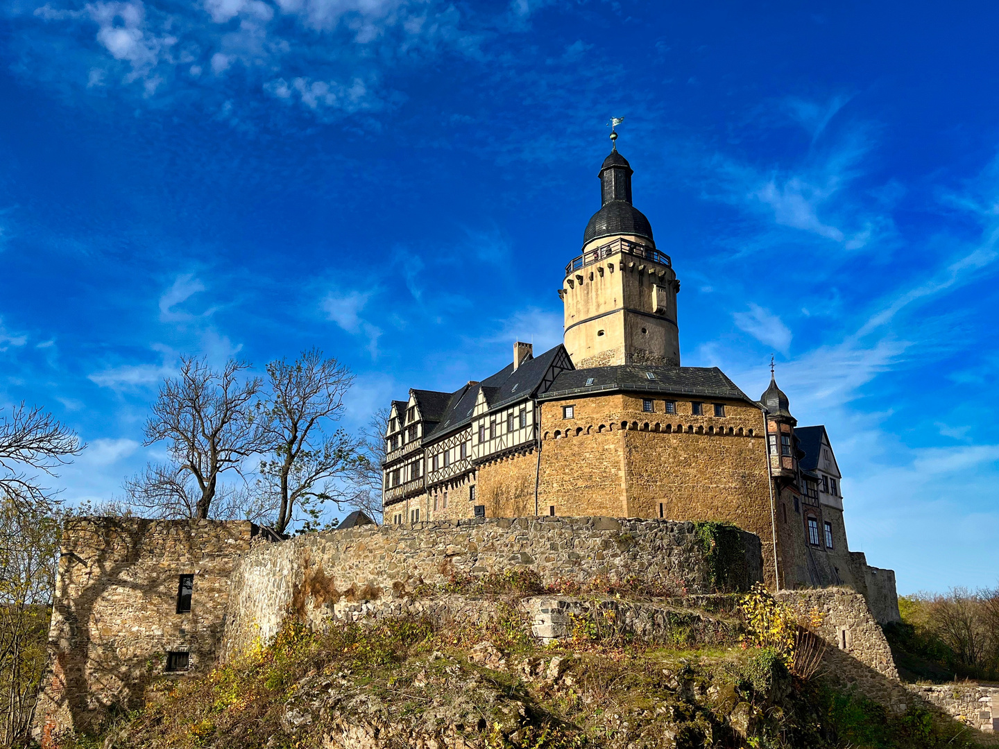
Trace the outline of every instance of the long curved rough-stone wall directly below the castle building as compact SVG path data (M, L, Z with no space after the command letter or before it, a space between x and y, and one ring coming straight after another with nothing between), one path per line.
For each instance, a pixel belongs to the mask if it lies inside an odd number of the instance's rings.
M750 579L757 580L759 539L744 539ZM251 550L233 573L222 657L267 641L289 613L322 626L353 610L345 602L403 599L456 574L524 566L545 583L640 575L689 593L710 589L704 548L689 522L538 517L363 526Z

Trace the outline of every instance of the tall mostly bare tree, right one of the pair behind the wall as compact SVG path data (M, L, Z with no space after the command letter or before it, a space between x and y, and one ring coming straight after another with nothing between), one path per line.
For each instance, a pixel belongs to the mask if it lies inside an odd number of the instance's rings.
M261 464L261 483L274 497L275 530L284 533L297 512L318 520L324 503L343 506L355 496L345 479L362 459L359 440L343 429L326 430L340 419L354 375L316 349L295 362L272 362L267 375L271 456Z

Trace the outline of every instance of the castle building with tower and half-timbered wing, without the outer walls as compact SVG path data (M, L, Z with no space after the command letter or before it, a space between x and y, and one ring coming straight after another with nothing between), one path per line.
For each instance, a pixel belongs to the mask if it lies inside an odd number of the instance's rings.
M563 344L534 357L516 342L494 375L392 402L386 522L726 520L762 539L770 585L847 585L897 620L894 573L847 545L825 427L798 426L772 377L756 400L717 368L680 366L680 285L632 205L631 175L614 142L558 290Z

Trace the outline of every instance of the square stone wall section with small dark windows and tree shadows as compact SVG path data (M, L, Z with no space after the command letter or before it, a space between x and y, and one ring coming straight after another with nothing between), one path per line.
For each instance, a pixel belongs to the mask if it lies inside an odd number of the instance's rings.
M50 662L35 738L90 730L110 705L135 706L164 673L166 653L190 671L214 663L229 576L251 546L249 522L77 518L64 529ZM194 575L189 613L177 613L181 574Z

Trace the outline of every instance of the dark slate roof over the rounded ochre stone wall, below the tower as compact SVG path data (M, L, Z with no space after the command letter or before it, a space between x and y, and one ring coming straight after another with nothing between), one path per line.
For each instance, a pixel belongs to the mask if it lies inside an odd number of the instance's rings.
M651 373L650 378L648 374ZM589 384L587 381L592 379ZM729 398L754 403L717 367L643 367L619 365L559 373L538 400L599 392L654 392L668 395Z

